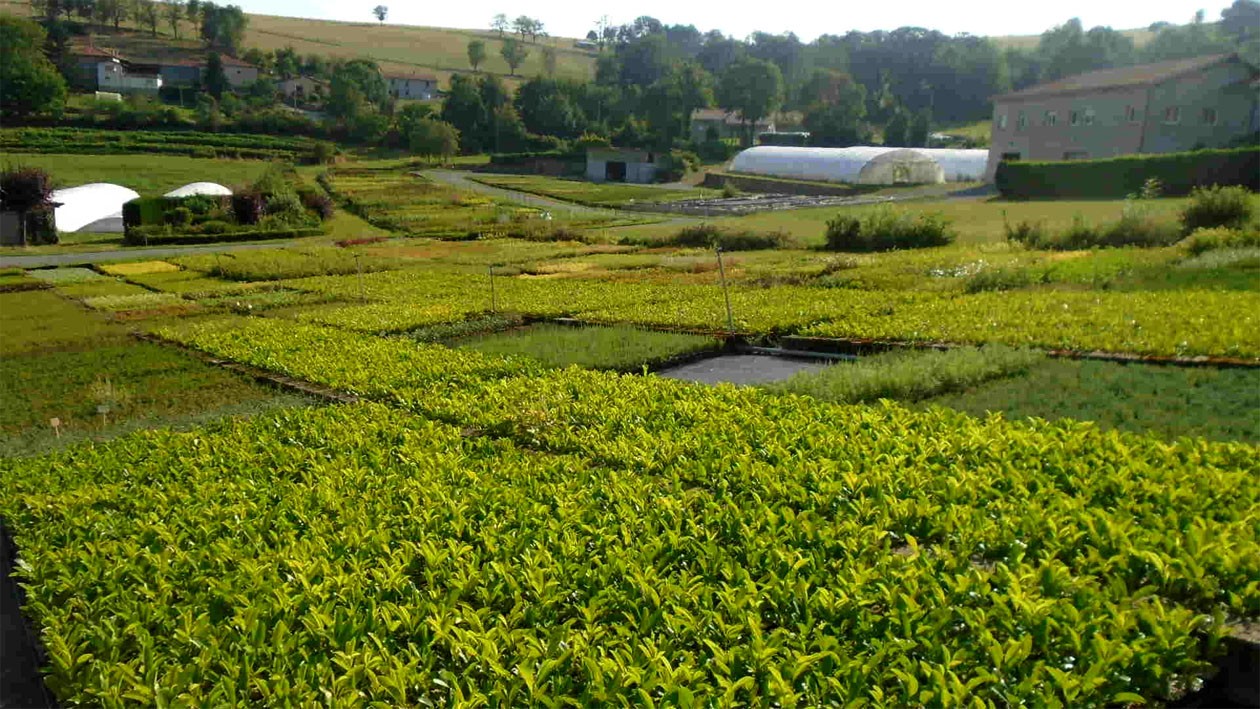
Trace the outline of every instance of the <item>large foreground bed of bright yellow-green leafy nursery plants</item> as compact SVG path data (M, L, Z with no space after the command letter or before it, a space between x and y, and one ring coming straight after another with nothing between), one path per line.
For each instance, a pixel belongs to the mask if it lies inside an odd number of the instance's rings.
M67 703L1162 701L1260 613L1254 446L161 334L379 403L0 463Z

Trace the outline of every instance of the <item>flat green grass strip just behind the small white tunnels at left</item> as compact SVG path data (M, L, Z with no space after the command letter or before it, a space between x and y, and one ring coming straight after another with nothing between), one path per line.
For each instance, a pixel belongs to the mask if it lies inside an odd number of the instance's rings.
M165 194L189 183L227 186L257 180L267 170L261 160L207 160L168 155L8 154L0 162L48 170L58 188L113 183L145 196Z

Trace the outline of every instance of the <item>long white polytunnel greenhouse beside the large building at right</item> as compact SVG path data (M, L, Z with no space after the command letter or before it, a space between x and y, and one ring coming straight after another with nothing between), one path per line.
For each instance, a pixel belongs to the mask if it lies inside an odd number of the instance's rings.
M935 184L982 180L988 159L987 150L760 145L736 155L731 170L857 185Z

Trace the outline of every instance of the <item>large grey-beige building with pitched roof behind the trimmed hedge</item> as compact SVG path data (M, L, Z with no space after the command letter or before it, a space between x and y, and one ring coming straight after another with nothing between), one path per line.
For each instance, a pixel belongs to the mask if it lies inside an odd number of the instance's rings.
M1002 160L1087 160L1222 147L1260 130L1260 69L1217 54L1104 69L993 99Z

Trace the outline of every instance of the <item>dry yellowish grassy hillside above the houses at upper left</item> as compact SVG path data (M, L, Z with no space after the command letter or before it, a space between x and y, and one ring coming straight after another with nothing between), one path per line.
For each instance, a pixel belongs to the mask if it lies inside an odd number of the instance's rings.
M30 15L30 4L15 0L0 0L0 13ZM158 28L154 38L147 30L137 30L134 23L122 24L122 33L102 29L93 34L97 47L117 49L123 55L160 58L197 50L200 44L189 40L175 40L170 26ZM189 37L190 25L184 25L183 37ZM276 15L249 15L244 47L258 49L280 49L294 47L301 54L324 54L352 59L365 57L377 60L386 72L437 74L441 86L446 86L452 72L469 71L467 43L471 39L486 43L486 60L481 71L508 77L508 64L499 55L503 45L493 31L422 28L377 23L340 23L331 20L311 20L302 18L281 18ZM573 39L539 38L538 44L529 43L529 57L518 74L534 76L543 72L542 48L556 49L556 76L561 78L586 79L595 76L595 54L575 49Z

